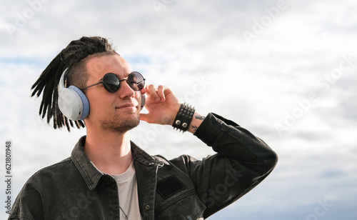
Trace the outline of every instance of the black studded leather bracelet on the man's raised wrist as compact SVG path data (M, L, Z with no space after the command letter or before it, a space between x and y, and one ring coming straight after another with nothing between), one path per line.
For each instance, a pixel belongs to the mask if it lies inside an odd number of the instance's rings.
M195 107L188 106L188 104L183 103L178 110L174 124L174 129L180 130L182 132L187 131L188 126L190 126L191 121L193 119L193 114L195 113Z

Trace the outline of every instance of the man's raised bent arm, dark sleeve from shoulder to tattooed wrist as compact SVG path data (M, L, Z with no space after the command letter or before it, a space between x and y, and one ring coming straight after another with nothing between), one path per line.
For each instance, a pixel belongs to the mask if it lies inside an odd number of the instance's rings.
M277 156L261 139L233 121L216 114L204 119L197 116L193 116L188 131L195 131L194 135L217 154L201 161L183 155L171 162L192 179L196 194L207 207L203 214L207 218L263 181L276 165ZM222 186L225 191L217 194Z

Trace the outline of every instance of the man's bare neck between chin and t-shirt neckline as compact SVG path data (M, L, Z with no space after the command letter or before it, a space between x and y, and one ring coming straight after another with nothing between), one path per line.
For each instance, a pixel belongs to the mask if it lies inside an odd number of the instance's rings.
M132 159L129 131L90 131L87 128L84 153L105 174L123 174Z

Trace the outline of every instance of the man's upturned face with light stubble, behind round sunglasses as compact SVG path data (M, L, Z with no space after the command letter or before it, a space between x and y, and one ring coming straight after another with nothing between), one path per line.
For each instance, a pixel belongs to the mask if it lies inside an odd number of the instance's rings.
M86 86L96 84L107 73L116 74L120 80L131 73L129 64L119 55L93 57L86 62L89 79ZM86 126L107 131L129 131L140 122L141 93L129 87L126 81L114 93L104 89L103 84L85 90L89 100L89 116Z

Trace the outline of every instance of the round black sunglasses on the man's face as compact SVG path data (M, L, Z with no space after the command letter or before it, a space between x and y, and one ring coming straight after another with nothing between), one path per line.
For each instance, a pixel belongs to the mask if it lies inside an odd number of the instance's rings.
M118 76L116 76L116 74L113 74L113 73L105 74L99 82L97 82L96 84L90 85L90 86L86 86L85 88L83 88L81 90L87 89L91 86L103 84L104 89L106 89L106 91L113 93L113 92L116 92L119 90L120 82L124 81L124 80L130 86L130 88L133 89L134 91L140 91L145 86L144 77L139 72L134 71L129 74L128 78L121 79L121 80L119 79Z

